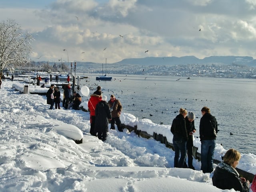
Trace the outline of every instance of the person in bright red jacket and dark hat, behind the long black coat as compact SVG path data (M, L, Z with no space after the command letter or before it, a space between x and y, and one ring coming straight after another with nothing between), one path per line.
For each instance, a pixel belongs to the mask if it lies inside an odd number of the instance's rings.
M91 94L90 99L88 101L88 110L90 112L90 134L93 136L97 136L97 130L95 129L95 109L96 105L101 101L102 99L102 92L98 92L97 94Z

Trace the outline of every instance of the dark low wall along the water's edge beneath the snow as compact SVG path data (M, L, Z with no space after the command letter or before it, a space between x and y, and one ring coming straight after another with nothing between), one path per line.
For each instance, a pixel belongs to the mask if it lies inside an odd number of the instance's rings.
M124 124L123 124L123 126L125 126L130 132L133 130L139 137L141 136L141 137L147 138L147 139L152 137L152 138L154 138L154 140L160 141L161 143L165 144L166 147L171 148L172 150L174 150L174 147L173 147L172 143L168 142L166 136L163 136L162 134L157 134L157 133L154 132L153 135L150 135L145 131L139 130L137 126L131 127L131 126L124 125ZM198 150L198 148L194 146L193 156L194 156L195 159L200 161L201 160L201 154L197 150ZM214 159L213 162L215 164L220 163L220 161L216 160L216 159ZM246 171L241 170L239 168L236 168L236 170L240 174L240 177L244 177L244 178L246 178L246 180L249 180L250 182L252 182L252 180L254 178L254 174L246 172Z

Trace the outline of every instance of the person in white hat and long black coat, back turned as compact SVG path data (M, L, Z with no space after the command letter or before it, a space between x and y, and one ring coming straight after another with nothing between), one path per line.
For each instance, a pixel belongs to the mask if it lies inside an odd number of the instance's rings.
M111 111L106 102L107 96L102 96L102 100L95 109L95 129L98 130L98 138L105 141L108 132L108 120L112 119Z

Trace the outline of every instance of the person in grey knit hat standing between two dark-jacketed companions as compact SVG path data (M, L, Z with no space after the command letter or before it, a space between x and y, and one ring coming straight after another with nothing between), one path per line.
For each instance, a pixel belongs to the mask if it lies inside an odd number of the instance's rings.
M195 170L193 166L193 134L196 132L195 128L195 114L191 111L188 112L188 115L185 117L186 120L186 129L188 134L187 141L187 154L188 154L188 168Z

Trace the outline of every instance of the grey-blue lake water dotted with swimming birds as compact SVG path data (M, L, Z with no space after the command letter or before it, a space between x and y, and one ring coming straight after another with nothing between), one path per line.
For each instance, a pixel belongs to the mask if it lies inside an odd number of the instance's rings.
M122 103L122 112L138 119L148 118L156 124L171 125L180 108L194 112L195 136L199 136L201 108L207 106L218 121L217 143L225 149L256 154L255 79L113 74L112 81L96 81L98 74L86 76L89 78L87 82L81 80L81 86L96 90L95 84L99 84L108 100L114 94Z

